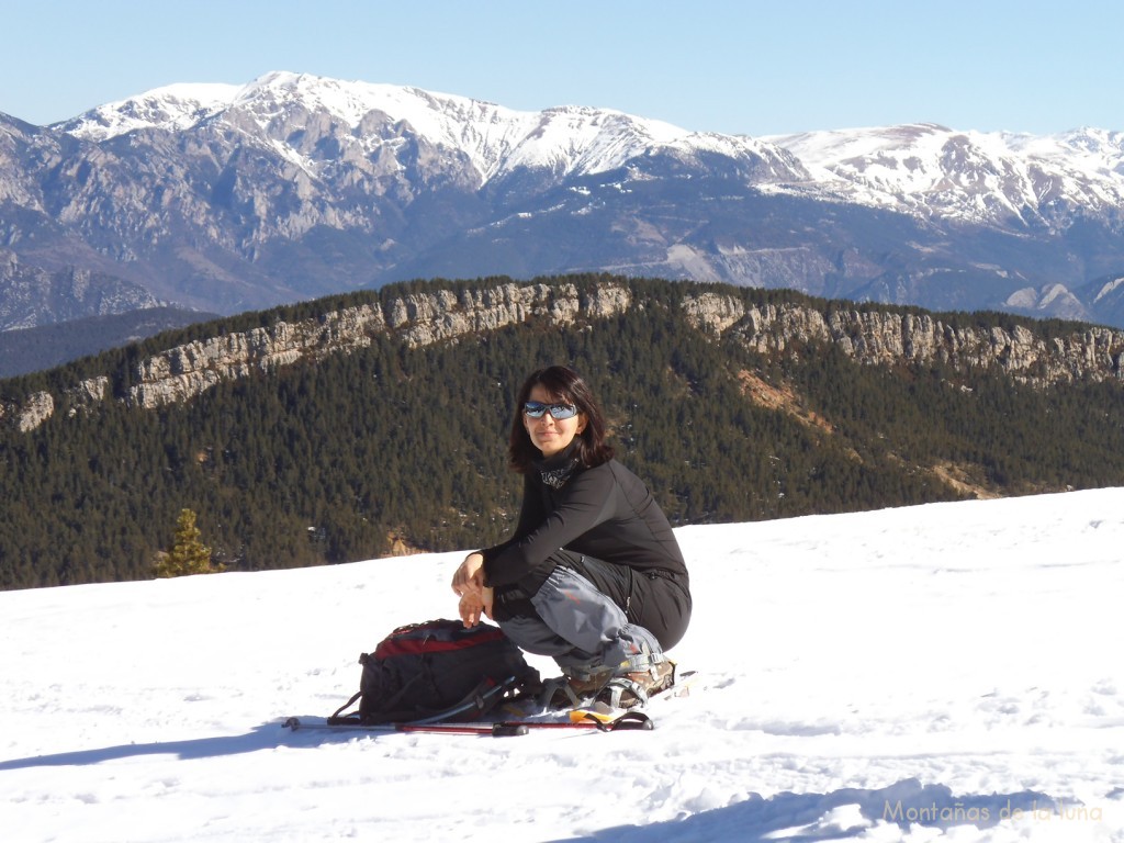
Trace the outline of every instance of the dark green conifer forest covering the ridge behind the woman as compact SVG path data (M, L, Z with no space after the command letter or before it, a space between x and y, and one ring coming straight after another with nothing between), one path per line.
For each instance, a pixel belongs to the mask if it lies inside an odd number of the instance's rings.
M2 381L0 397L96 372L111 372L120 392L135 361L158 347L489 283L415 282L192 326ZM505 453L514 393L528 371L556 362L593 384L618 457L676 525L1124 482L1118 382L1041 388L998 372L861 365L816 344L761 354L688 324L679 303L697 285L628 284L642 306L607 318L531 319L416 348L377 334L369 347L160 410L109 400L30 432L0 426L0 587L149 577L183 509L228 571L496 542L519 490Z

